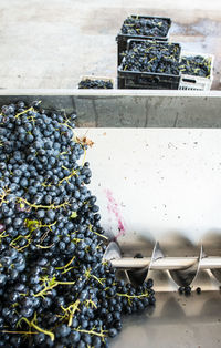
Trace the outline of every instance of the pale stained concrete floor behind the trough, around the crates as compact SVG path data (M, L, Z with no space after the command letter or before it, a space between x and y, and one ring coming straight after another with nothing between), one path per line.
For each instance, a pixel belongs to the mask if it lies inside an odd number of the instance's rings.
M220 86L220 0L1 0L0 88L72 89L81 75L116 78L115 37L131 13L171 17L171 39L215 55Z

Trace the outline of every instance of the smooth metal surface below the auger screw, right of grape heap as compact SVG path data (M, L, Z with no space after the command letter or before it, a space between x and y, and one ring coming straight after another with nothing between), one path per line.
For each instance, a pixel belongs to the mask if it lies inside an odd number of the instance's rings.
M157 293L156 307L125 317L112 348L221 347L221 294Z

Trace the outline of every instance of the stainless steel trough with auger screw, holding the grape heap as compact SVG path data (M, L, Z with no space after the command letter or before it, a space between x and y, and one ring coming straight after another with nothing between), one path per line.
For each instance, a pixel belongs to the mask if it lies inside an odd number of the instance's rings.
M112 347L221 347L221 92L0 91L0 105L18 100L77 113L105 257L155 280L155 310L125 318Z

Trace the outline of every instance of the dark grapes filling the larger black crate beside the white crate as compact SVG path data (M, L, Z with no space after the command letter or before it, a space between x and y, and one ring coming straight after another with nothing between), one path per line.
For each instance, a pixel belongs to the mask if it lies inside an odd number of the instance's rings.
M180 47L177 43L134 41L123 54L123 71L179 75Z

